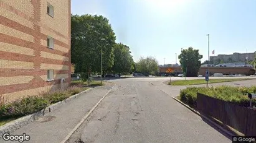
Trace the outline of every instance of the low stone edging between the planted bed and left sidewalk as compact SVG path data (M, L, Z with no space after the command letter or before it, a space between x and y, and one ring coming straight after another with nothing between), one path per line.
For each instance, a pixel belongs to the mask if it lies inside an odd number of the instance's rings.
M33 113L31 115L23 116L21 118L15 119L14 121L4 124L3 126L0 127L0 139L2 138L2 135L4 133L6 133L6 132L11 133L11 132L16 131L17 129L22 128L23 126L26 126L27 124L46 115L47 113L57 110L57 108L59 108L61 105L64 105L65 103L68 103L68 102L74 100L75 98L79 97L83 93L89 92L90 90L92 90L92 88L84 90L83 92L77 93L75 95L72 95L71 97L69 97L61 102L54 103L41 111L37 111L36 113Z

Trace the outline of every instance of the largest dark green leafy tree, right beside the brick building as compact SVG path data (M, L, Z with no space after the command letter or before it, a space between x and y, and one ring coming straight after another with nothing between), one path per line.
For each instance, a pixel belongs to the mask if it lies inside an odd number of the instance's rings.
M72 15L71 61L76 65L75 72L100 72L101 48L103 71L110 69L114 61L115 40L108 19L102 15Z

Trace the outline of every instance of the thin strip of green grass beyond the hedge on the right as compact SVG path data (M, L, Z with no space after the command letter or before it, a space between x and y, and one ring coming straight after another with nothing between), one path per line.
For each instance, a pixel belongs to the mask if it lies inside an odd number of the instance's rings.
M239 80L252 80L252 79L210 79L208 84L219 83L219 82L234 82ZM206 84L205 79L192 79L192 80L176 80L168 82L169 85L197 85Z

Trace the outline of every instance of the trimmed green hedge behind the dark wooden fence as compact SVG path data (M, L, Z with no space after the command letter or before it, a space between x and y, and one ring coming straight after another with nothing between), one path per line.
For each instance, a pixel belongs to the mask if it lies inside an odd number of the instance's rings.
M187 87L180 92L181 101L189 106L196 107L197 92L227 102L237 103L241 106L249 106L247 93L256 93L256 86L252 87ZM252 101L256 105L256 100Z

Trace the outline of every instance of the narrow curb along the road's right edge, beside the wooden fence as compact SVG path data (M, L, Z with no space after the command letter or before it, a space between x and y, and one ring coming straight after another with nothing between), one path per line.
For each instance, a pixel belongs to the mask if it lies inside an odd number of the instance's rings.
M154 85L153 83L151 83L152 85ZM154 87L156 87L156 85L154 85ZM158 87L156 87L156 89L158 89ZM158 89L161 90L161 89ZM163 90L161 90L162 92L164 92ZM164 92L166 93L166 92ZM167 95L169 95L168 93L166 93ZM225 134L228 134L229 136L237 136L235 134L232 134L232 132L227 131L227 129L222 128L219 124L215 123L214 121L212 121L211 119L209 119L207 116L202 115L201 113L199 113L198 111L192 109L190 106L186 105L185 103L181 102L180 100L178 100L177 98L169 95L171 98L173 98L174 100L176 100L177 102L181 103L181 105L186 106L186 108L188 108L189 110L191 110L192 112L196 113L196 115L201 116L201 118L206 119L207 121L209 121L211 124L213 124L214 126L216 126L218 129L220 129L221 131L225 132Z

